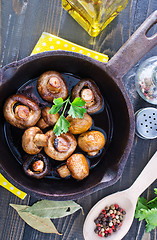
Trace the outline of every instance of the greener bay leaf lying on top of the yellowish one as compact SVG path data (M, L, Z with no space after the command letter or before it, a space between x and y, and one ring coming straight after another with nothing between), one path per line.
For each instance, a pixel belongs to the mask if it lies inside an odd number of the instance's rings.
M82 207L74 201L41 200L23 211L30 212L38 217L55 219L68 216L79 209L82 210Z

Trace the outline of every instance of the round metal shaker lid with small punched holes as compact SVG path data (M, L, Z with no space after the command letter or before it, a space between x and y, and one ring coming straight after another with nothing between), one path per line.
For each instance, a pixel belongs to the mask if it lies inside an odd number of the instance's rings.
M143 139L157 137L157 109L148 107L135 113L136 134Z

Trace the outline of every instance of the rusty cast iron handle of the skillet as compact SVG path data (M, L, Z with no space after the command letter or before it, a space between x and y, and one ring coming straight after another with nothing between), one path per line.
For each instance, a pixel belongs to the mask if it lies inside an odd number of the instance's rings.
M147 52L157 44L157 33L147 37L148 30L157 23L157 10L153 12L119 51L107 63L109 71L122 78Z

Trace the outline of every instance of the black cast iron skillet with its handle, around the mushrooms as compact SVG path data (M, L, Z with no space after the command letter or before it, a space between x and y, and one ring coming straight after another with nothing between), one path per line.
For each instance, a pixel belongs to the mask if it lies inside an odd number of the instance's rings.
M133 108L121 79L146 52L157 44L157 34L150 38L146 37L147 31L156 22L157 11L140 26L107 64L73 52L54 51L30 56L2 68L0 73L0 164L4 175L14 185L38 198L70 200L86 196L118 181L129 156L135 130ZM39 77L47 70L55 70L67 76L93 79L100 88L112 116L112 129L110 129L112 136L107 136L111 140L109 146L99 164L91 169L86 179L80 182L74 179L36 180L27 177L6 142L5 120L2 112L4 101L11 94L16 93L23 84ZM103 128L101 119L97 122L97 126L99 123Z

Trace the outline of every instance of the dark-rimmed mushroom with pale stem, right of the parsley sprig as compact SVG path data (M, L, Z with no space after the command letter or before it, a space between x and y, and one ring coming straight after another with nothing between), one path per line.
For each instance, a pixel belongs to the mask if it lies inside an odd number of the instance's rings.
M72 90L72 99L81 97L85 102L85 108L88 113L99 111L103 105L101 93L91 79L83 79L79 81Z

